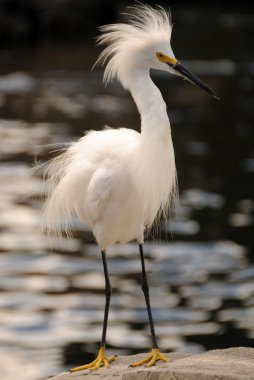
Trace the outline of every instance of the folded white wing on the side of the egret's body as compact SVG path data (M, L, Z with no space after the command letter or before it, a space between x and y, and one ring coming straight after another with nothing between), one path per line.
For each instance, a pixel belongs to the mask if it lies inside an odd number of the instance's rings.
M89 213L93 222L96 222L105 210L114 182L114 175L110 169L100 168L92 176L87 196Z

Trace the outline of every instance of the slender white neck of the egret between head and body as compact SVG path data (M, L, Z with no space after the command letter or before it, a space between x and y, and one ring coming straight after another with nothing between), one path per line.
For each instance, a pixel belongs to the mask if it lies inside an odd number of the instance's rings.
M167 139L170 123L166 104L153 83L149 71L136 71L129 89L141 116L141 135L149 139Z

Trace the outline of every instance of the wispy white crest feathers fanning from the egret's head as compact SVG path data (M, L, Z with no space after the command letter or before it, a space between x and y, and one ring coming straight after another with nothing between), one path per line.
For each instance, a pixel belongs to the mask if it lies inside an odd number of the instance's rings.
M97 38L97 45L106 45L95 65L106 65L103 81L105 84L114 78L119 79L121 61L128 57L128 51L133 52L153 38L158 43L170 41L172 22L170 12L161 6L152 8L149 5L138 3L129 7L128 23L104 25L99 28L102 32Z

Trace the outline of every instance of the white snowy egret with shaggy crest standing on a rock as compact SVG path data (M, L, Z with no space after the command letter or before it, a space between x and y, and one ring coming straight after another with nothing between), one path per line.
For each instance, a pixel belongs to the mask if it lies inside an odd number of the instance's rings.
M117 242L137 241L152 336L152 351L144 363L167 361L157 345L143 254L144 231L168 210L177 193L174 149L166 104L150 78L150 69L188 79L215 93L175 58L170 45L172 24L161 7L137 4L128 23L102 26L99 45L106 45L97 63L105 64L104 81L117 78L136 102L141 131L105 128L90 131L53 159L47 169L50 186L45 203L49 232L67 234L73 217L88 224L100 247L105 274L106 304L101 346L90 364L71 370L108 367L115 356L105 351L111 287L106 249Z

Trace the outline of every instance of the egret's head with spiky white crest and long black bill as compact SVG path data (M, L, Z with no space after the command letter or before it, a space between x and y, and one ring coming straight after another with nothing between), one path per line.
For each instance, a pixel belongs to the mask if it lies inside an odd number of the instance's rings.
M131 8L129 23L100 28L102 34L97 42L107 46L96 64L106 64L104 82L108 83L116 77L125 88L129 88L133 76L140 70L163 70L182 76L218 99L204 82L175 58L170 43L170 14L162 7L152 8L141 3Z

